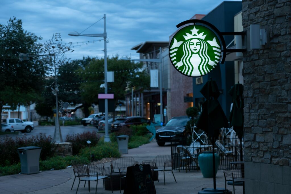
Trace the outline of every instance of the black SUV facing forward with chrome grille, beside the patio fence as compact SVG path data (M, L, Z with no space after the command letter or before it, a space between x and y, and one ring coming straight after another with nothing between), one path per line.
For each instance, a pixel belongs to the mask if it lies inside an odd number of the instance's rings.
M173 137L191 138L191 134L186 132L185 127L190 120L188 116L175 116L162 128L156 131L156 141L159 146L164 146L166 142L171 142Z

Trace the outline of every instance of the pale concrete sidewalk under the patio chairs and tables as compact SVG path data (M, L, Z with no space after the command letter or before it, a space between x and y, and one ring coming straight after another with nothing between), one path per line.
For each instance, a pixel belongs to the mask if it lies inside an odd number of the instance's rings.
M140 146L139 148L130 149L128 154L123 156L132 156L138 162L143 160L154 159L157 155L170 155L171 147L169 144L160 147L155 142L151 142ZM110 166L109 163L105 167ZM155 181L155 188L158 194L169 193L198 193L202 188L213 188L213 178L203 178L201 171L191 170L186 173L185 170L173 170L177 183L173 178L171 172L166 172L166 185L164 185L163 173L159 172L159 182ZM76 193L78 179L73 184L74 175L72 168L64 170L45 171L32 175L10 175L0 177L0 193L38 193L38 194L52 194L52 193ZM95 192L95 182L91 183L91 193ZM218 171L216 177L217 187L224 188L224 177L221 170ZM88 194L88 184L84 188L84 182L79 186L78 193ZM233 190L232 186L227 186L229 190ZM102 181L98 182L97 193L111 193L105 191ZM119 193L119 191L113 191ZM122 191L123 193L123 191ZM242 186L235 187L236 194L242 194Z

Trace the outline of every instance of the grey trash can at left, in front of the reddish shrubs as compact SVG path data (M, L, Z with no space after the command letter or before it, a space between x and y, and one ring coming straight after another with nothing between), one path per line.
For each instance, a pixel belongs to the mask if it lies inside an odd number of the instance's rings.
M40 151L41 148L36 146L28 146L17 149L22 174L39 173Z

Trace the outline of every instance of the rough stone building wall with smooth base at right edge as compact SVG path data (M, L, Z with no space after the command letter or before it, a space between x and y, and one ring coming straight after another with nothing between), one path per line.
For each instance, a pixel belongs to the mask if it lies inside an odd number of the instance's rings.
M243 0L242 24L260 24L267 46L244 53L246 193L291 193L290 0Z

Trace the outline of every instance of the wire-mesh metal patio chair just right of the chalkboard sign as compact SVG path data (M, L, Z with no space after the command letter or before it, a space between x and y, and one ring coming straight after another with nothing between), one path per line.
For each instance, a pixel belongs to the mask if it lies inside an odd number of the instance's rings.
M143 164L150 164L151 165L154 162L155 166L154 166L154 168L152 168L152 170L164 172L164 185L166 185L165 171L171 171L173 174L173 177L175 179L175 182L177 183L175 175L173 173L173 168L172 168L173 159L174 159L173 155L158 155L153 160L144 160ZM158 182L159 182L159 179L158 179Z

